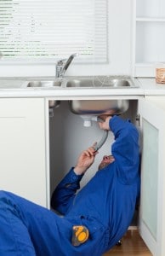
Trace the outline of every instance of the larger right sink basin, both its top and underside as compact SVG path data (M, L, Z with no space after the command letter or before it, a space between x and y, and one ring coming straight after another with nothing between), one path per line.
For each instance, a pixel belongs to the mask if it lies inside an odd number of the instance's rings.
M135 84L134 79L128 76L94 76L68 79L65 87L116 90L136 88L139 85ZM80 115L113 115L126 112L129 108L129 101L127 99L72 100L69 101L69 107L72 113Z

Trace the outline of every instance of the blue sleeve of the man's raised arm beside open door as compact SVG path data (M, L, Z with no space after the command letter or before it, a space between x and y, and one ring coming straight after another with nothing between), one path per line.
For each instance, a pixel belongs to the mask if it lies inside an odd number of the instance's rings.
M122 183L134 183L139 177L139 132L129 120L118 116L110 119L109 124L115 136L111 154L115 158L117 175Z

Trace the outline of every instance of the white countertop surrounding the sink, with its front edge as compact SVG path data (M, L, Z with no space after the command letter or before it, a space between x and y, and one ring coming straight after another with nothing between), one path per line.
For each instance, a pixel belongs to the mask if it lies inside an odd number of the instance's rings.
M53 78L44 78L53 79ZM165 96L165 84L156 84L155 79L135 79L139 88L107 89L107 88L26 88L26 78L0 79L0 97L53 97L70 99L74 97L108 98L128 97L131 99L140 96Z

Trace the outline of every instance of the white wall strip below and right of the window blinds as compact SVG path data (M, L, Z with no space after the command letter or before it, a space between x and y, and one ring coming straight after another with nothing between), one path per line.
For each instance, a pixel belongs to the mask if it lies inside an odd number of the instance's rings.
M80 65L72 62L67 75L131 74L132 72L132 0L108 0L109 60L106 65ZM67 57L67 56L66 56ZM0 77L54 76L54 64L2 64Z

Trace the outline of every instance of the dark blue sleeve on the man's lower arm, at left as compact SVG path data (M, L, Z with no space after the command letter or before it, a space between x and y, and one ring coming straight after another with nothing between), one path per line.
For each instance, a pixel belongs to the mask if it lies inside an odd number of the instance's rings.
M73 201L77 192L80 189L80 181L83 175L77 175L73 171L73 167L68 172L62 181L54 189L54 193L51 198L51 207L65 215L69 212L73 205Z

